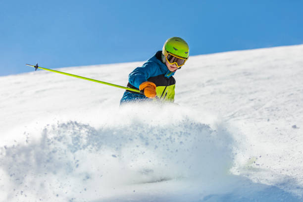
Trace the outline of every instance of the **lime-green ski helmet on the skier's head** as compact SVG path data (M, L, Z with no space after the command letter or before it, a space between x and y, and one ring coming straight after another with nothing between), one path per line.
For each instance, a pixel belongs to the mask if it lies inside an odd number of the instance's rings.
M166 40L162 49L162 54L167 57L168 52L175 56L179 56L186 59L189 57L188 44L180 37L172 37Z

